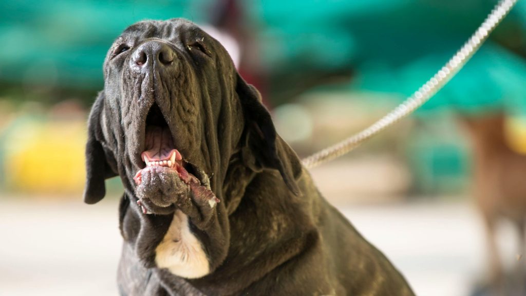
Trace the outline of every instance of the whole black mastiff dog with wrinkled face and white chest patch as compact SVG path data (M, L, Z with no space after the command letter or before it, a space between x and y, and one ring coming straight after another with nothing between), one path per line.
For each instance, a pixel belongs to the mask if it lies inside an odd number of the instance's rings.
M122 295L412 295L322 198L225 49L184 19L117 38L85 201L119 175Z

